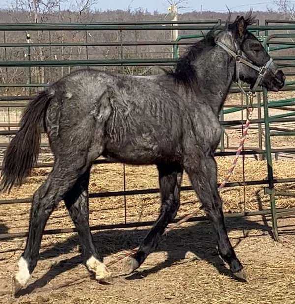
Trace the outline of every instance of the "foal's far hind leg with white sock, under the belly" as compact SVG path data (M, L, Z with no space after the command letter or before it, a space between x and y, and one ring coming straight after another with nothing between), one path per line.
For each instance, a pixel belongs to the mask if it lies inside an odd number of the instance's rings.
M97 252L89 228L88 184L90 168L81 175L72 189L64 198L65 205L77 228L82 254L86 259L86 266L95 273L96 279L101 282L112 283L113 279Z

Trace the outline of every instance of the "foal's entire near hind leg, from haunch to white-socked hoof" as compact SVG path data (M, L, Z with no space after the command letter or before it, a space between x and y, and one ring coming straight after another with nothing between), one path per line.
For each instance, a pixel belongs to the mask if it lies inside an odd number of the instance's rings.
M56 157L55 165L33 197L29 235L15 276L15 292L25 286L37 264L50 214L103 152L104 125L111 113L110 94L105 91L96 98L87 88L86 92L80 92L81 96L78 92L75 97L68 97L72 98L69 102L66 97L62 97L62 101L53 100L47 109L46 129ZM84 105L83 98L89 101L91 108Z

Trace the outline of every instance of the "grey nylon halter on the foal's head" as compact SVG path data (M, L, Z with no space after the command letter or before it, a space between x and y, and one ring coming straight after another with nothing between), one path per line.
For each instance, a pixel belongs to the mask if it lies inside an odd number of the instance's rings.
M239 80L239 73L240 73L239 71L240 71L241 63L250 67L251 69L253 69L255 71L258 71L258 76L257 76L256 82L251 90L252 93L254 93L259 85L260 80L265 75L266 71L269 69L271 63L273 62L273 59L269 58L269 60L262 67L259 67L255 64L253 64L252 62L250 62L249 60L244 59L242 57L243 52L241 50L238 50L237 53L235 53L222 42L216 41L216 44L218 46L220 46L223 50L225 50L228 54L230 54L236 60L236 82Z

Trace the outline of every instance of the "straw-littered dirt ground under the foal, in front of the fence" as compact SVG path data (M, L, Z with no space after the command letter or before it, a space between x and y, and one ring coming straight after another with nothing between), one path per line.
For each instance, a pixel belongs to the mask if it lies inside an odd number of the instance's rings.
M295 220L280 225L294 229ZM0 303L294 303L294 234L282 235L281 243L276 243L258 217L231 221L227 227L247 271L246 283L231 278L217 256L210 226L202 223L173 231L135 274L116 277L114 285L100 285L90 277L81 264L75 236L46 236L33 278L17 299L8 290L23 241L5 242ZM145 233L145 229L99 232L94 239L110 256L126 244L137 244ZM111 270L117 275L120 265Z

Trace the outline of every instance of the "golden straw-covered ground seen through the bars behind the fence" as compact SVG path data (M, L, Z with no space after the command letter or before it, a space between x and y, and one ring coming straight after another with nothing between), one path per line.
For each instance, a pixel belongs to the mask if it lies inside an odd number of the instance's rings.
M219 177L221 182L225 177L232 158L217 158ZM294 177L294 161L274 161L275 178ZM126 189L147 189L158 187L157 170L155 166L126 166ZM229 181L243 180L242 159L238 161L237 167ZM0 199L30 197L38 186L47 177L47 170L35 170L33 176L20 188L14 188L10 194L0 194ZM260 180L267 178L266 161L255 161L251 158L245 159L245 180ZM190 185L187 175L184 175L183 185ZM276 189L292 189L294 184L276 185ZM89 192L107 192L123 190L123 165L106 164L93 168L89 183ZM221 190L225 211L241 212L245 210L259 210L269 207L268 196L264 195L263 186L246 186L236 188L225 188ZM244 201L245 197L245 201ZM181 193L181 207L178 215L184 215L198 208L198 200L194 192ZM159 207L159 195L127 196L127 221L154 220ZM295 207L295 199L282 197L277 200L278 207ZM2 205L0 208L0 219L5 223L10 232L26 229L29 220L29 204ZM200 211L202 214L202 211ZM22 218L20 222L19 219ZM61 222L60 222L61 221ZM90 224L116 224L124 221L123 197L111 197L103 199L91 199ZM63 203L54 212L48 222L48 228L61 226L72 226Z

